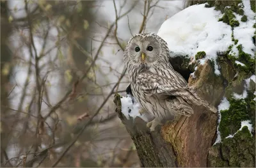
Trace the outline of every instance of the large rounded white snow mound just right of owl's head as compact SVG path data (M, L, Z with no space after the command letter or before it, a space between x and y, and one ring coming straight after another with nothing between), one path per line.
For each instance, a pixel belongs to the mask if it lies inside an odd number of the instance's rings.
M214 8L205 8L205 4L189 6L166 20L158 31L173 52L182 52L193 56L204 51L206 56L200 59L213 59L216 75L220 70L216 64L217 52L225 52L233 43L231 27L223 22L218 22L222 17L220 11ZM202 13L204 13L202 15Z

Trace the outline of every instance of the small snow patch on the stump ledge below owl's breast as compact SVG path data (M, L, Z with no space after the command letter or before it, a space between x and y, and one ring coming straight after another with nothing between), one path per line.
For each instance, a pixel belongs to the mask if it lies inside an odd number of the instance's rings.
M131 95L126 95L121 98L122 103L122 113L127 119L139 117L144 121L148 122L151 119L151 116L147 112L140 114L140 109L142 108L140 103L132 97Z

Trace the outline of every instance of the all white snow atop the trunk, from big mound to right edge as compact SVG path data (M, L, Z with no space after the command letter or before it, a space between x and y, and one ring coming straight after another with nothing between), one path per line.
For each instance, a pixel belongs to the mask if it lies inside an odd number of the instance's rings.
M255 13L250 9L250 1L243 0L243 4L248 21L242 22L242 16L234 13L240 23L240 26L234 27L234 38L238 40L237 45L242 44L244 52L253 56L256 50L252 41L252 34L255 31L253 28ZM200 63L204 64L207 59L212 59L214 72L220 75L216 53L225 52L230 45L233 45L231 53L238 56L237 45L232 42L231 26L218 22L223 14L214 8L204 6L205 4L193 5L176 13L162 24L157 34L168 43L169 49L174 53L179 52L195 57L197 52L204 51L206 56L200 59ZM236 63L244 66L239 61Z

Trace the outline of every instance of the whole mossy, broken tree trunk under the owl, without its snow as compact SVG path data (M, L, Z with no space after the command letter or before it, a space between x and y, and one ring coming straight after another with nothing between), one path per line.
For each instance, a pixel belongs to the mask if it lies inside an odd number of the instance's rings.
M237 4L242 1L191 1L191 5L205 2L208 2L205 7L214 6L224 15L227 12L224 10L225 6L231 6L230 10L233 13L244 15L241 12L243 6L237 7ZM231 29L234 26L232 25L234 20L236 18L223 17L220 21L226 22ZM239 54L243 53L239 51ZM188 79L189 72L193 70L191 67L193 64L189 65L189 58L182 56L172 59L173 68ZM248 62L254 61L248 66L252 67L252 70L236 66L234 63L236 59L230 57L228 51L218 53L217 63L220 66L221 75L216 76L214 64L212 61L207 61L204 65L196 65L198 66L195 72L196 78L190 77L188 83L189 86L196 88L198 95L215 107L218 107L223 96L228 98L230 108L233 109L241 109L241 102L245 102L244 110L238 110L237 115L245 113L246 118L251 119L254 128L255 84L252 83L251 90L248 90L248 97L237 100L236 103L232 102L232 93L234 91L243 93L243 80L255 74L255 58L248 59ZM168 123L161 128L159 126L158 130L150 133L142 119L136 118L132 121L125 118L121 112L120 95L115 95L114 102L119 118L134 141L142 167L255 167L255 130L252 134L246 126L239 130L241 121L245 119L239 115L235 119L232 118L233 110L225 111L226 116L224 111L220 112L223 116L219 131L223 140L214 144L217 136L218 114L207 111L204 107L193 107L194 114L191 117L182 116L179 121ZM234 121L228 120L230 118ZM236 132L233 138L225 138L228 134Z

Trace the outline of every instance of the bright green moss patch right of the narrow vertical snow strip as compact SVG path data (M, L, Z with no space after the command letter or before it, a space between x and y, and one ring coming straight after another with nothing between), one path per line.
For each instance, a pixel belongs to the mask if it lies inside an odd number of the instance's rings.
M228 110L221 111L221 121L219 131L221 139L230 134L235 134L241 127L241 121L250 119L248 115L248 105L244 99L236 100L230 98L230 107Z

